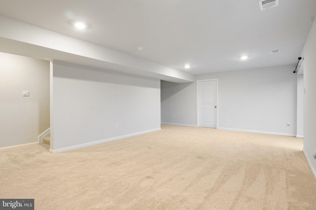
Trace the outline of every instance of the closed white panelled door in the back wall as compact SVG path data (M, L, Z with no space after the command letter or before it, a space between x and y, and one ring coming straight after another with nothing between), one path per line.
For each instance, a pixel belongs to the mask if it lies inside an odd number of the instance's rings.
M197 126L216 128L217 80L197 81Z

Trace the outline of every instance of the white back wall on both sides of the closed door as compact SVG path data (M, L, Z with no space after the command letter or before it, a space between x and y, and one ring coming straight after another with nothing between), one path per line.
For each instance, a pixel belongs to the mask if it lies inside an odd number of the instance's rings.
M197 75L196 80L218 78L219 128L296 136L297 88L293 67ZM161 83L163 122L196 125L196 97L196 83ZM180 119L170 119L177 112L181 112Z

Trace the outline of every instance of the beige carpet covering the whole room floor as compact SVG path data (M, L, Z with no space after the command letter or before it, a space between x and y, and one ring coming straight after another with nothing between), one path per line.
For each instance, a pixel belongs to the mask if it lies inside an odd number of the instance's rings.
M57 154L0 150L0 198L36 210L315 210L316 181L295 137L161 125Z

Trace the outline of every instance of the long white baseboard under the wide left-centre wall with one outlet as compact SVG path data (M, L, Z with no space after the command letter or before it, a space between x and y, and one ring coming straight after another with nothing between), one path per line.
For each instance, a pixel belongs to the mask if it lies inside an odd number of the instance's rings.
M141 132L137 132L137 133L131 133L131 134L123 135L123 136L118 136L118 137L109 138L109 139L103 139L103 140L99 140L99 141L95 141L95 142L84 143L84 144L75 145L75 146L66 147L66 148L61 148L61 149L57 149L57 150L49 149L49 152L50 153L58 153L58 152L63 152L63 151L75 150L75 149L79 149L79 148L83 148L83 147L88 147L88 146L92 146L92 145L102 144L105 142L110 142L110 141L114 141L114 140L118 140L118 139L131 137L131 136L137 136L140 134L149 133L149 132L153 132L153 131L157 131L157 130L161 130L161 128L159 127L159 128L155 128L155 129L151 129L151 130L145 130L145 131L141 131Z

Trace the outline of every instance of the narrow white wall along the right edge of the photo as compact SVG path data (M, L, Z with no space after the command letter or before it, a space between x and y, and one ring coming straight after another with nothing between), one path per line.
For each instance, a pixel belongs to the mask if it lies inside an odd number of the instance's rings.
M316 21L301 55L304 60L304 153L316 178Z

